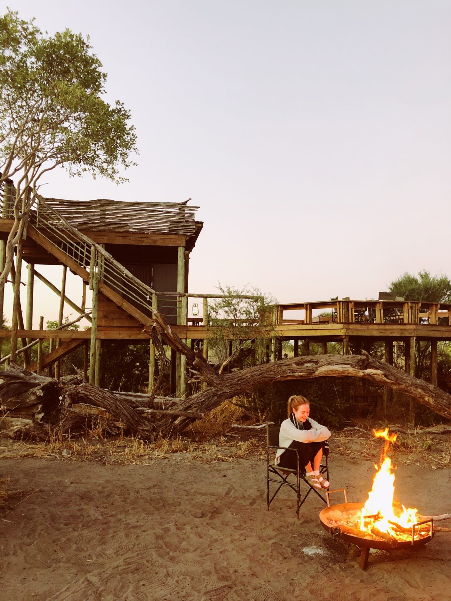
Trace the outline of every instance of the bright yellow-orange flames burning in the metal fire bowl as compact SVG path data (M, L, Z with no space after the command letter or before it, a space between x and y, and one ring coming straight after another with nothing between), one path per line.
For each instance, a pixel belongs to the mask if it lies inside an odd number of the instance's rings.
M394 538L400 538L399 528L393 526L394 522L402 528L411 528L417 523L417 509L406 509L402 505L402 511L393 506L394 496L394 474L391 470L390 457L387 457L390 443L396 441L396 434L389 434L385 430L373 430L376 438L385 440L384 449L381 454L380 468L375 464L376 474L373 487L368 495L361 512L360 529L370 532L384 532Z

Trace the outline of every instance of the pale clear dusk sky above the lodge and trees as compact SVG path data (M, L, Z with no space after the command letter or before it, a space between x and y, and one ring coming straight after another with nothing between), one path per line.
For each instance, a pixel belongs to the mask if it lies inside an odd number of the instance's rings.
M204 228L190 292L221 282L279 302L365 299L406 271L451 276L448 0L8 6L43 31L88 34L105 98L138 135L128 183L61 170L41 194L192 198ZM61 270L37 269L60 285ZM81 302L78 279L67 293ZM57 319L54 296L35 285L35 327Z

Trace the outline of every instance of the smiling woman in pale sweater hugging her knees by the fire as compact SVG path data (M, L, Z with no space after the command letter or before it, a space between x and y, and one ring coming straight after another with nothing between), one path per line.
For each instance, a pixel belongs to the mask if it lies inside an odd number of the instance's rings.
M279 445L295 449L298 453L278 449L275 463L280 468L298 469L305 472L305 480L316 489L327 489L330 485L319 473L322 459L322 442L330 437L325 426L311 419L310 403L301 395L293 395L288 399L288 419L280 426Z

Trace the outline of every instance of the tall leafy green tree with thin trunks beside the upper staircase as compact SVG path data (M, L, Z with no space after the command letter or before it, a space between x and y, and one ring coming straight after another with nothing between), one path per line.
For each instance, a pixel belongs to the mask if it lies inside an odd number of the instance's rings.
M119 169L134 164L130 113L102 99L106 73L88 41L69 29L43 35L11 10L0 17L0 185L19 175L0 285L46 172L62 166L71 177L88 172L121 183Z

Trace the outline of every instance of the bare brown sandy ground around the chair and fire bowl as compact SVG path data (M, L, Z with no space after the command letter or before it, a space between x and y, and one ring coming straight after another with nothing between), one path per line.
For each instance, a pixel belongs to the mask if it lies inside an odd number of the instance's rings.
M363 572L357 548L319 525L324 505L313 494L299 520L292 493L266 510L265 468L186 454L126 466L2 459L0 476L35 492L2 516L0 597L449 601L451 534L419 550L372 551ZM373 471L331 457L331 484L350 501L366 499ZM450 511L451 469L403 465L396 478L406 506Z

